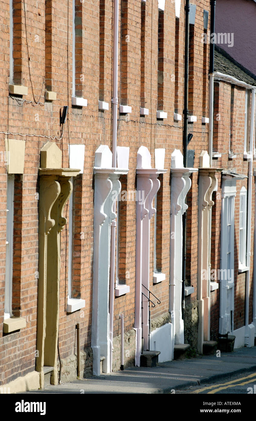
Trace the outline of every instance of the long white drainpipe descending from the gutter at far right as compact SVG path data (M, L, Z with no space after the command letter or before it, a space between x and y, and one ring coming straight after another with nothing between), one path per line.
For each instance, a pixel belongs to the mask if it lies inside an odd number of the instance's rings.
M250 127L250 144L249 150L251 158L249 160L248 169L248 206L247 206L247 245L246 245L246 266L248 271L246 272L246 286L245 286L245 346L249 342L249 296L250 296L250 260L251 260L251 205L252 205L252 178L253 178L253 133L254 133L254 114L255 114L255 92L256 89L252 89L252 101L251 101L251 127Z

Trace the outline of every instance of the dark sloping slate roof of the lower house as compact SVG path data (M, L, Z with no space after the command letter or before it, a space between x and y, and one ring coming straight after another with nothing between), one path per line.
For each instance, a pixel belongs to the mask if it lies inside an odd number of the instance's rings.
M215 45L214 49L214 72L224 73L242 80L249 85L256 86L256 75L245 69L241 64L232 59L232 57Z

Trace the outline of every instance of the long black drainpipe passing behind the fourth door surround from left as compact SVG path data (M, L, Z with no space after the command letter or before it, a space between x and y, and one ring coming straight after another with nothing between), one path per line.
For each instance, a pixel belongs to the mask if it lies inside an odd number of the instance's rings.
M190 3L185 4L185 52L184 52L184 110L183 110L183 164L187 168L187 117L188 117L188 66L189 66L189 11ZM185 328L185 276L186 276L186 234L187 216L182 215L182 319Z

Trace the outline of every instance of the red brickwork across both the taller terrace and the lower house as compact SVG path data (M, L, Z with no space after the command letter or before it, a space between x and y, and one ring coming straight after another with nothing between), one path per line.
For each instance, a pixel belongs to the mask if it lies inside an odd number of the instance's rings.
M0 217L0 385L35 369L37 333L38 288L38 200L40 150L46 141L54 141L62 151L62 166L69 167L69 144L85 144L84 173L74 182L74 237L72 253L72 292L74 298L85 300L80 311L66 312L68 298L68 245L69 202L64 214L66 227L61 233L61 280L59 351L61 360L73 356L76 349L76 324L80 325L81 350L91 346L92 330L92 280L93 280L93 218L94 218L94 158L100 144L111 149L111 96L112 96L112 24L113 4L108 0L91 2L75 1L75 92L87 99L87 107L71 105L72 97L72 2L13 0L13 58L14 83L28 88L28 95L21 97L8 93L9 80L9 1L1 0L1 53L0 85L0 152L5 152L6 137L26 140L24 174L16 175L14 196L14 245L13 245L13 315L26 319L26 328L3 334L5 302L5 241L6 241L6 181L7 166L0 162L1 217ZM161 304L152 309L156 318L169 310L169 256L170 256L170 195L171 155L174 149L182 151L182 121L174 121L174 112L183 112L184 89L184 0L180 18L175 18L174 2L165 2L158 24L156 0L121 0L119 2L119 103L132 107L127 115L119 114L117 144L129 147L129 173L121 179L122 189L135 191L137 151L141 145L148 148L154 168L154 150L165 148L167 172L161 177L159 214L157 216L157 264L166 279L153 285L153 236L154 223L150 225L150 290ZM197 122L188 124L193 133L189 149L195 151L194 167L199 167L202 150L208 150L208 125L201 117L208 116L208 56L209 45L201 42L203 11L210 11L209 0L195 0L195 25L190 25L190 112ZM25 8L24 8L25 5ZM210 14L209 14L210 17ZM141 22L143 23L141 26ZM209 28L209 21L208 21ZM142 31L142 32L141 32ZM161 40L158 42L158 33ZM218 85L218 86L217 86ZM44 98L45 89L56 93L55 101ZM42 91L42 95L40 96ZM234 123L232 131L234 152L238 158L235 168L248 174L248 162L243 160L244 90L234 89ZM98 109L98 101L106 101L109 109ZM38 103L40 102L40 103ZM61 138L60 110L69 106L68 117ZM149 114L140 115L140 107ZM166 119L157 119L156 111L167 112ZM214 150L222 153L217 168L231 168L228 160L228 134L230 124L230 84L216 84L215 108L222 115L214 118ZM24 134L26 136L21 136ZM46 137L44 137L46 136ZM52 139L49 138L52 136ZM239 143L239 139L241 139ZM236 150L237 148L237 150ZM2 156L2 155L1 155ZM4 155L3 155L4 156ZM215 161L213 166L215 165ZM219 176L220 177L220 176ZM197 306L197 245L198 245L198 173L191 176L192 187L187 195L187 266L188 285L195 292L185 299L186 308ZM237 192L246 180L237 182ZM254 186L254 180L253 180ZM214 193L216 205L212 212L211 266L219 268L221 183ZM238 193L237 193L238 194ZM254 203L254 187L253 187ZM239 232L239 203L235 201L235 232ZM119 280L125 280L130 292L115 298L113 336L120 334L119 314L124 313L126 332L134 327L135 315L135 244L136 202L121 202L121 233L119 245ZM252 226L254 226L254 208ZM159 238L159 232L161 237ZM253 229L252 229L253 232ZM251 237L253 251L253 235ZM252 302L253 253L251 254L250 300ZM235 253L235 273L238 259ZM243 325L245 274L235 278L235 328ZM188 315L189 317L189 315ZM216 337L219 317L219 290L211 293L211 329ZM250 322L252 306L250 306ZM186 323L190 323L187 319ZM194 326L194 331L197 326ZM195 338L186 340L196 348Z

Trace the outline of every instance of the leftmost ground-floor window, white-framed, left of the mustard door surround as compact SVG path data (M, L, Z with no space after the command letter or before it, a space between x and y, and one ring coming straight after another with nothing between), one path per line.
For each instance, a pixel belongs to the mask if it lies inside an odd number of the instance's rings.
M14 175L7 176L6 258L5 258L5 319L12 316L13 287L13 201Z

